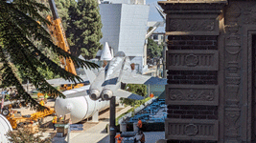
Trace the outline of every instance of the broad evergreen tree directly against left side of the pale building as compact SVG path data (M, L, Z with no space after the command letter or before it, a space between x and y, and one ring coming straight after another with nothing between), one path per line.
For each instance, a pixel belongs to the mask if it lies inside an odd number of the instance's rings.
M67 33L71 39L71 51L81 53L85 59L96 56L102 49L100 39L102 34L102 21L99 12L99 4L96 0L79 0L77 5L69 9L71 22Z

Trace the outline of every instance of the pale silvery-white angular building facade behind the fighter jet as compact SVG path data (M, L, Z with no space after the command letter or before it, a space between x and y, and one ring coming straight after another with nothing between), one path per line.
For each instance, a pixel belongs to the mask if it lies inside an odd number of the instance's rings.
M124 51L137 72L147 70L145 36L150 6L144 0L112 0L99 5L103 23L103 38L115 54Z

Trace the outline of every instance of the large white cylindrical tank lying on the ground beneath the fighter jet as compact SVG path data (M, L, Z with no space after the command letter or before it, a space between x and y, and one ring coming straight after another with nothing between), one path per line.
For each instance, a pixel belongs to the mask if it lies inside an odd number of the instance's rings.
M109 107L109 101L103 100L92 100L86 91L89 90L89 86L84 86L78 89L73 89L63 92L63 94L71 94L75 92L84 91L84 96L72 97L72 98L60 98L56 99L55 112L57 115L64 115L70 113L72 123L78 123L81 120L88 118L93 115L93 113L103 111L105 108ZM116 98L117 103L119 102L119 97Z

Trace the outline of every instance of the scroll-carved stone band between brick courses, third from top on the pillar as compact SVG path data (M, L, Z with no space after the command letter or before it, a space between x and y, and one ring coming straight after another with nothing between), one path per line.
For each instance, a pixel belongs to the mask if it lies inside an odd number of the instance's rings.
M166 102L173 105L218 105L218 86L168 85Z

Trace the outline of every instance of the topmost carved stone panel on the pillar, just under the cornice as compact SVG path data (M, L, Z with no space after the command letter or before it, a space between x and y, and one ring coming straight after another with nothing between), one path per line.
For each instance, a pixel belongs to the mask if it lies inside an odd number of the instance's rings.
M169 19L170 29L167 31L214 31L215 19Z

